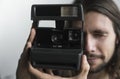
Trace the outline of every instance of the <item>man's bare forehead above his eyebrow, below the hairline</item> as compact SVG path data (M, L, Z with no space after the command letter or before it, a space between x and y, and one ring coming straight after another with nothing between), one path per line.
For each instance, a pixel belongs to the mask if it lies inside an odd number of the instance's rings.
M113 31L112 21L105 15L98 12L88 12L85 14L85 30L108 30Z

